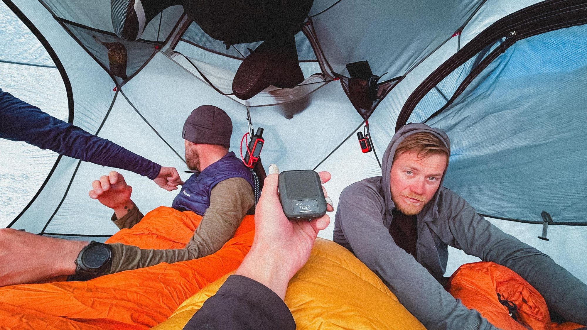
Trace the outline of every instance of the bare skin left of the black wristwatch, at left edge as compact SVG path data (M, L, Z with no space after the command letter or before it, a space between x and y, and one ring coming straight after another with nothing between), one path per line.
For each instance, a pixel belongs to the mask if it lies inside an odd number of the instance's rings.
M72 275L77 255L87 244L0 229L0 287Z

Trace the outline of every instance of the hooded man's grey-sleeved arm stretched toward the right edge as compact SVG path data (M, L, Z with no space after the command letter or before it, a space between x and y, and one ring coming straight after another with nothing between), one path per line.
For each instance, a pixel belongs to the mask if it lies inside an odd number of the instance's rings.
M458 197L458 196L457 196ZM544 297L549 308L566 321L587 325L587 285L548 255L495 227L463 198L454 198L450 230L458 248L517 272Z

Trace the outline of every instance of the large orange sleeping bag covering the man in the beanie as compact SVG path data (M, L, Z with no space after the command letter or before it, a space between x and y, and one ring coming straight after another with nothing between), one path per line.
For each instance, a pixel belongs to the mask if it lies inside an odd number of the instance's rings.
M183 248L201 217L170 207L150 211L107 243ZM86 282L21 284L0 288L0 329L149 329L187 298L241 264L251 248L254 217L207 257L104 275Z

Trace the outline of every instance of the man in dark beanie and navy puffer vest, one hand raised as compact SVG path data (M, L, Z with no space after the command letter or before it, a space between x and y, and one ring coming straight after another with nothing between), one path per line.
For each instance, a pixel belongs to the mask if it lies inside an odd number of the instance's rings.
M231 135L232 120L219 107L204 105L191 112L181 136L185 144L185 162L194 174L185 181L171 207L202 215L200 225L183 249L147 250L121 243L108 244L112 260L103 274L205 257L230 240L255 203L251 171L234 152L228 152ZM110 174L119 177L122 183L119 186L124 191L126 183L122 175L114 173ZM90 197L113 208L112 220L120 229L133 227L143 214L130 200L130 193L103 191L102 181L106 180L93 181ZM118 203L109 203L113 195L119 197Z

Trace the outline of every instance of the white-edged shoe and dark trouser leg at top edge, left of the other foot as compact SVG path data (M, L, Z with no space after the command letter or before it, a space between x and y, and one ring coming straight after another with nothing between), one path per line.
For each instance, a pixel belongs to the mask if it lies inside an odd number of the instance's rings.
M124 40L135 41L147 24L163 9L179 5L174 0L110 0L110 16L114 33Z

